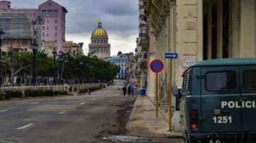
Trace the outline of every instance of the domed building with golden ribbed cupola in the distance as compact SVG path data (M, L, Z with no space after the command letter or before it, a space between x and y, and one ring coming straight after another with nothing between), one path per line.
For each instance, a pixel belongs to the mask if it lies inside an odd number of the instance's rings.
M98 21L98 27L91 33L91 43L89 44L89 55L95 55L99 59L110 57L110 44L108 44L108 35L102 28L101 20Z

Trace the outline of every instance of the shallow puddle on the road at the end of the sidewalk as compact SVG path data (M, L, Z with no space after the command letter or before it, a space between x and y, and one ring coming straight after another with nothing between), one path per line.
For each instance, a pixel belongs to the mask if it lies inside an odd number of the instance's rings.
M105 141L111 142L167 142L169 138L150 138L146 136L108 136L102 138Z

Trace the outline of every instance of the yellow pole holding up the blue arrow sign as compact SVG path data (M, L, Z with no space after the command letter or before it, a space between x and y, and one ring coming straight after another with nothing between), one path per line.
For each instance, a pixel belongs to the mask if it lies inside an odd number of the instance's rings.
M169 131L172 131L172 59L171 59L171 65L170 65L170 88L169 88Z

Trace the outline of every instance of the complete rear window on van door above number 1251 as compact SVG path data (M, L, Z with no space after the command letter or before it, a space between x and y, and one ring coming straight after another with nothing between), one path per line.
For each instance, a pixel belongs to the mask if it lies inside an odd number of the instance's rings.
M230 91L236 89L236 74L234 71L210 72L205 78L208 91Z

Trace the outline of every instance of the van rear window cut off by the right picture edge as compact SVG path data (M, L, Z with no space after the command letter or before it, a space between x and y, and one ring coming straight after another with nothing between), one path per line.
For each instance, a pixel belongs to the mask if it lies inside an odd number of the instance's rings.
M244 88L246 90L256 90L256 71L244 72Z

